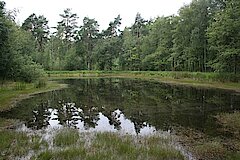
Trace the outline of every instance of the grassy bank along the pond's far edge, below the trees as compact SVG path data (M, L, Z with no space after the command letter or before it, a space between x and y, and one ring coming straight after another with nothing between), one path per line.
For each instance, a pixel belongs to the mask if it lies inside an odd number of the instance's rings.
M240 92L240 75L227 73L168 71L47 71L51 78L123 77L141 78L164 83L230 89Z

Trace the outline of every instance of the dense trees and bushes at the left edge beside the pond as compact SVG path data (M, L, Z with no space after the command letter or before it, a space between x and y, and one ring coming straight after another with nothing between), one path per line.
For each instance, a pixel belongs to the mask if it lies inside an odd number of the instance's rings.
M31 82L43 74L42 67L33 61L34 39L14 22L0 1L0 78Z

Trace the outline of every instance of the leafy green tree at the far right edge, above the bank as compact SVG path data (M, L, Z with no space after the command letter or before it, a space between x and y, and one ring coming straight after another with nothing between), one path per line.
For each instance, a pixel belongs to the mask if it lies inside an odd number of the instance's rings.
M225 4L225 9L216 12L214 21L208 28L210 49L215 54L211 64L216 71L236 74L240 66L240 2L229 0Z

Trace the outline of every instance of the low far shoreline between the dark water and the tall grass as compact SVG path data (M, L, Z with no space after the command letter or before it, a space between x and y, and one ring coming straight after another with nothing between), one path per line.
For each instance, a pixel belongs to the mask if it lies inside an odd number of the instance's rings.
M109 72L99 72L99 71L48 71L48 77L51 79L78 79L78 78L137 78L142 80L157 81L160 83L166 83L170 85L182 85L189 87L200 87L200 88L216 88L231 90L240 93L240 83L238 82L221 82L218 80L204 80L202 78L181 78L178 75L164 75L165 72L141 72L141 71L132 71L132 72L122 72L122 71L109 71ZM167 74L169 72L166 72ZM174 73L175 74L175 73ZM181 74L181 72L177 73ZM184 73L183 74L187 74ZM195 74L195 73L189 73ZM196 73L198 74L198 73ZM202 73L203 75L205 73ZM207 75L208 73L206 73Z

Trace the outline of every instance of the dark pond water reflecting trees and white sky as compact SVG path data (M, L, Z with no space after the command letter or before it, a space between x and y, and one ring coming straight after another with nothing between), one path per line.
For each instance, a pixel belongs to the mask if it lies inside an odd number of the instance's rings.
M185 127L215 135L214 115L240 110L240 95L220 89L115 78L63 82L69 88L25 99L0 117L20 119L33 130L71 126L149 134Z

